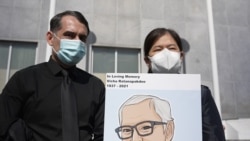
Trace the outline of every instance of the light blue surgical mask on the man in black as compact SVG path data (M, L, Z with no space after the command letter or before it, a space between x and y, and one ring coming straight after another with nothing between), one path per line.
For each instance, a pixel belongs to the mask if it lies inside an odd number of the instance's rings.
M56 36L56 35L55 35ZM56 36L56 38L58 38ZM55 51L58 59L65 65L73 66L81 61L86 54L86 44L80 40L59 39L60 49Z

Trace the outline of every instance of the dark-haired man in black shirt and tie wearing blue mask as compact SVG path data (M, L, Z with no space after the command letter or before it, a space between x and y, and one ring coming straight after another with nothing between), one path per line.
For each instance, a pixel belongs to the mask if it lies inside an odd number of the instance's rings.
M20 141L21 133L34 141L103 140L104 84L76 67L88 34L88 22L77 11L51 19L49 61L15 73L0 95L1 141L9 136Z

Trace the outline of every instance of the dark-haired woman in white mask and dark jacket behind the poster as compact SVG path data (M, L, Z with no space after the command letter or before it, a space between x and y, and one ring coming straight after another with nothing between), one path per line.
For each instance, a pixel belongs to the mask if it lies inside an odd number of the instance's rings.
M144 42L144 60L149 73L180 73L184 52L179 35L156 28ZM225 141L221 118L208 87L201 86L203 141Z

